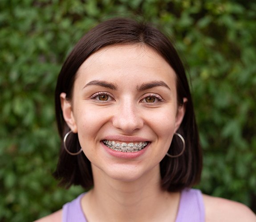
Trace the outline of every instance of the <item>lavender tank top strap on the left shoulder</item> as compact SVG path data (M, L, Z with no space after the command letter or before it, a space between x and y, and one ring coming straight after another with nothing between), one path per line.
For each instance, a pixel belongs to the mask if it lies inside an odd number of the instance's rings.
M81 208L81 198L85 193L79 195L72 202L62 207L62 222L87 222Z

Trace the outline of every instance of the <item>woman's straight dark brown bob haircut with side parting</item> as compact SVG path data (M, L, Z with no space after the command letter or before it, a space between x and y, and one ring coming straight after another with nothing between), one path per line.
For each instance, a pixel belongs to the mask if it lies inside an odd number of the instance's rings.
M158 52L174 69L178 103L183 104L183 98L187 98L186 113L178 129L179 134L183 135L186 141L186 149L183 155L177 158L165 156L160 162L161 186L163 190L175 192L195 185L201 176L202 153L183 63L171 40L148 24L126 18L110 19L91 29L75 45L63 64L55 91L57 125L62 141L70 129L62 115L60 94L65 92L66 98L72 100L74 81L81 64L99 49L115 44L144 44ZM77 152L81 149L77 134L69 135L66 146L71 152ZM181 140L174 135L168 153L177 155L182 151L182 148ZM63 143L61 144L57 169L53 175L60 180L60 185L66 188L71 185L81 185L85 189L89 189L93 186L90 161L83 152L77 156L69 155L65 151Z

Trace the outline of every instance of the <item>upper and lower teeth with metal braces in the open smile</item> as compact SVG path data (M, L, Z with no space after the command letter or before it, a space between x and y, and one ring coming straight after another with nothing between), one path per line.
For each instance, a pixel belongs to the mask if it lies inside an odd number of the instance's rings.
M103 143L112 150L122 152L138 152L148 144L148 142L123 143L110 140L103 140Z

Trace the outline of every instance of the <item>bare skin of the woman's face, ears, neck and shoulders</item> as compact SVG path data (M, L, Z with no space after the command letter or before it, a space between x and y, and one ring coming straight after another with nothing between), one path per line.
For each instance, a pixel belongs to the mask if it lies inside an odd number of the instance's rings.
M71 100L61 94L65 121L92 163L94 187L81 200L88 221L175 221L180 194L161 190L159 168L186 111L186 98L183 105L177 103L175 78L171 66L149 47L116 45L85 60ZM104 139L149 143L131 154L110 151ZM207 222L256 221L242 204L203 199ZM236 217L230 214L234 209ZM61 214L40 221L61 221Z

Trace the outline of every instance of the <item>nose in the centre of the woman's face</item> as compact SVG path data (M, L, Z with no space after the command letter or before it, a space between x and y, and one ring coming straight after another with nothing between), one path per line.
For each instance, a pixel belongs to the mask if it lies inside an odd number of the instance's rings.
M141 129L144 123L137 106L133 103L127 103L127 100L125 104L118 104L112 119L113 126L128 134Z

